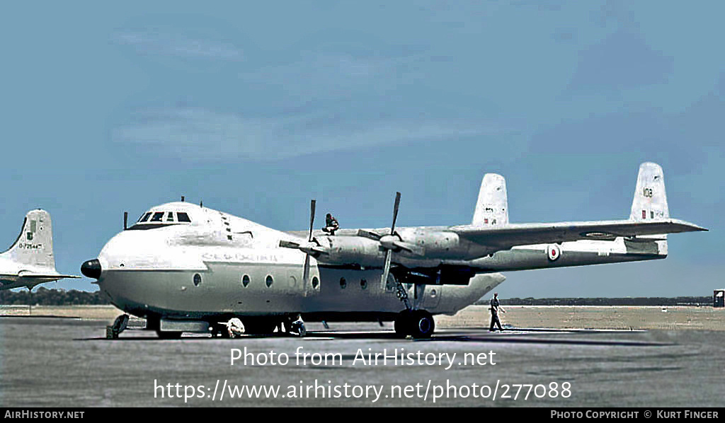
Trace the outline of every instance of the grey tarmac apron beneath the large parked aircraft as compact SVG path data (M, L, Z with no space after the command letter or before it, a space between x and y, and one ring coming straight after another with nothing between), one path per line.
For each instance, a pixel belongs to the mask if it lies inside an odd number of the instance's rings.
M724 331L443 327L431 340L401 340L389 324L308 324L307 338L128 330L106 340L107 323L1 317L0 405L696 407L725 398ZM389 357L369 360L376 353ZM263 387L276 398L249 393Z

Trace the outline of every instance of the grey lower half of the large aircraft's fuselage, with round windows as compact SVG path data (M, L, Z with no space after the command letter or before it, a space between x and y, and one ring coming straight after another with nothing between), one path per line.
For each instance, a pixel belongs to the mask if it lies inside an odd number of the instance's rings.
M109 270L99 285L120 309L142 317L147 314L176 318L226 314L375 314L405 309L395 295L394 284L381 284L381 269L313 267L305 283L301 264L206 264L205 271ZM407 288L417 307L432 313L450 313L461 308L462 299L457 295L446 296L443 291L464 292L468 287L425 285L419 286L417 293L413 285ZM441 298L450 301L441 301Z

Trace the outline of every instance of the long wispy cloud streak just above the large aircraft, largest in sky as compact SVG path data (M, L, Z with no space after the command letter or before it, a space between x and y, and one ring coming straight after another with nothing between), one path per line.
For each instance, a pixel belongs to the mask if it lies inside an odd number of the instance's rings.
M141 109L113 141L180 158L279 160L319 152L492 133L479 122L381 118L353 120L326 112L248 117L202 107Z

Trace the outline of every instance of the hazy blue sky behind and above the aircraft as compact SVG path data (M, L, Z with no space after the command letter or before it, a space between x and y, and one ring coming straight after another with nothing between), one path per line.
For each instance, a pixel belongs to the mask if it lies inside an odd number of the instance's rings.
M721 288L725 56L719 2L5 4L0 239L51 212L79 274L149 206L282 230L471 221L481 177L512 222L629 216L640 162L674 217L664 261L509 272L510 296ZM49 287L94 290L91 280Z

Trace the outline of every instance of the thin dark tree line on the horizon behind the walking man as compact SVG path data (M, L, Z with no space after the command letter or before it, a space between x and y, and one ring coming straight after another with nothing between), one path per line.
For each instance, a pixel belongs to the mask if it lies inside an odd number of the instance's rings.
M487 305L490 298L476 304ZM712 306L712 297L637 298L499 298L505 306Z

